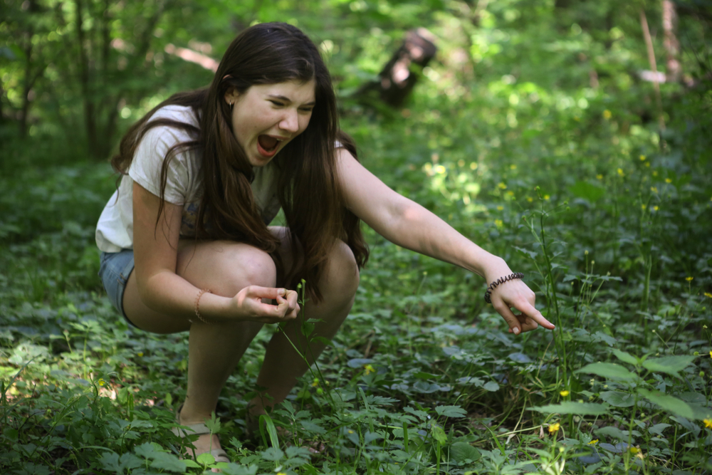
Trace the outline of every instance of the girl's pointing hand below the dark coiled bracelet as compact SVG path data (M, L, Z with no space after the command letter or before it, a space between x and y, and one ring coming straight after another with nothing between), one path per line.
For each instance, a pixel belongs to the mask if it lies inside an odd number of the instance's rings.
M544 318L544 315L534 307L536 299L534 292L520 279L499 284L491 291L490 297L494 309L509 325L509 333L519 335L522 332L535 330L539 325L549 330L554 329L553 323ZM512 308L520 313L514 313Z

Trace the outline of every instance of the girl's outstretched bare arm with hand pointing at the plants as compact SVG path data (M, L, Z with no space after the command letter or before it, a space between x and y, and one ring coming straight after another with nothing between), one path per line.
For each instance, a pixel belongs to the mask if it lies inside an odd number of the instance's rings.
M378 234L406 249L453 263L482 276L487 283L512 273L500 257L488 253L424 207L387 187L345 149L338 152L339 176L347 207ZM533 291L520 280L498 286L492 305L511 333L543 325L554 328L534 307ZM515 315L510 308L522 314Z

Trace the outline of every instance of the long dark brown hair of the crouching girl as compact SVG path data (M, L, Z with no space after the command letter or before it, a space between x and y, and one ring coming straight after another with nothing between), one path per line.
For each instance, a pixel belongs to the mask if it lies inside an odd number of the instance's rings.
M232 132L231 110L224 97L231 88L244 93L252 85L290 80L314 80L316 102L305 131L273 159L291 246L295 253L300 247L303 250L303 260L287 272L287 277L291 282L304 279L310 298L320 301L316 284L335 239L348 244L359 267L366 263L369 253L360 220L345 208L337 179L335 141L354 156L355 145L339 129L331 76L318 48L298 28L283 23L258 24L240 33L227 48L211 85L172 95L157 105L128 130L111 162L117 172L125 174L141 138L152 127L177 127L189 132L195 140L174 145L164 157L159 216L169 161L179 151L200 148L203 194L197 236L241 241L276 256L280 241L261 219L250 187L253 169ZM192 108L199 127L169 119L150 120L166 105ZM280 259L276 262L281 267Z

